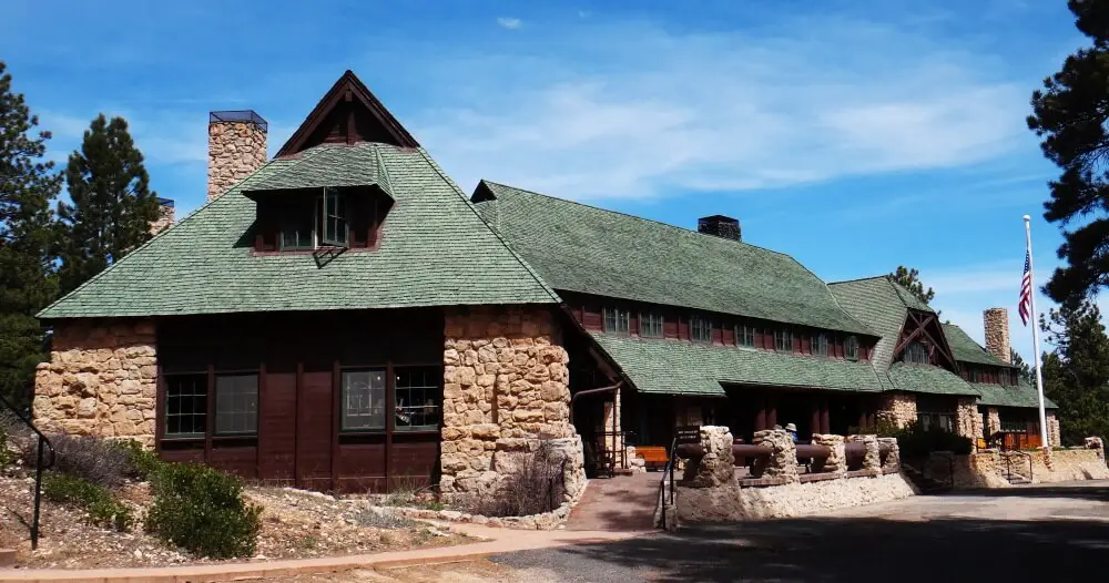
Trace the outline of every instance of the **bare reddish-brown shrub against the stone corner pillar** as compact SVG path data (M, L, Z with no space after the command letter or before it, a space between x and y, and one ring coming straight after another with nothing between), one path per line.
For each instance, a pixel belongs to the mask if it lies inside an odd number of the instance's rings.
M516 462L516 471L505 475L495 492L466 501L462 505L467 511L486 516L527 516L551 512L562 504L564 458L549 441L519 453Z

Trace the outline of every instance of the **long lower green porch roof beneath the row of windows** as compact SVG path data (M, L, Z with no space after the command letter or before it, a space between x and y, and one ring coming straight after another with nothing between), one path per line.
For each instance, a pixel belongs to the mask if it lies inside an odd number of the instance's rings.
M721 383L879 391L866 362L772 350L593 334L635 388L650 393L724 395Z

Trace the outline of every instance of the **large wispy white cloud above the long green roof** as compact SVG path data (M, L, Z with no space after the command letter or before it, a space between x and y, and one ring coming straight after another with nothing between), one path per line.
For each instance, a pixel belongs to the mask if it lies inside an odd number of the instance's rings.
M1027 134L1026 88L991 79L989 55L912 31L582 27L530 52L441 63L466 71L447 81L458 99L413 125L464 187L489 177L573 198L771 188L975 164Z

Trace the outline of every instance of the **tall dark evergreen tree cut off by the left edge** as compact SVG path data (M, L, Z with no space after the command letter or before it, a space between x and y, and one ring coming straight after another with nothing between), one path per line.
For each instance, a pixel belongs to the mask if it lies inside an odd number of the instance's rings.
M0 61L0 392L26 406L47 360L34 314L57 294L50 204L61 177L42 158L50 132L34 131L39 120L6 70Z

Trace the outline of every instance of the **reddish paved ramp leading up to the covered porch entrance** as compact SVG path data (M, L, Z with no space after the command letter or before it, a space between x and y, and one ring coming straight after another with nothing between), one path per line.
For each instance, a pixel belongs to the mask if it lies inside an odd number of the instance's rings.
M661 472L639 472L589 481L566 522L568 531L649 532L654 530Z

